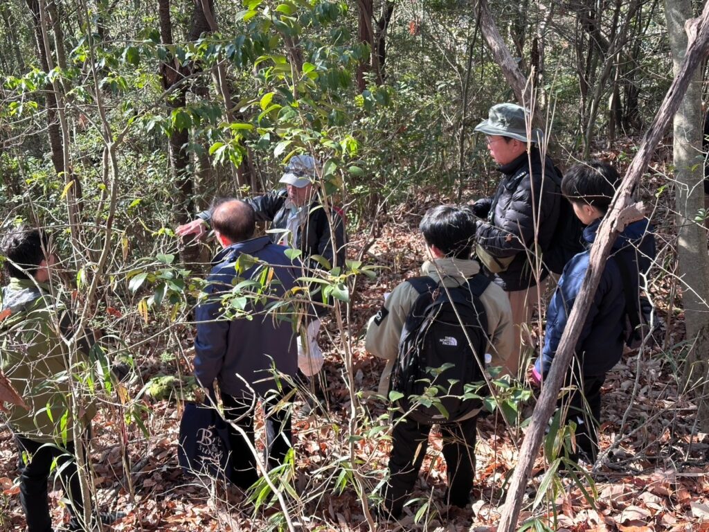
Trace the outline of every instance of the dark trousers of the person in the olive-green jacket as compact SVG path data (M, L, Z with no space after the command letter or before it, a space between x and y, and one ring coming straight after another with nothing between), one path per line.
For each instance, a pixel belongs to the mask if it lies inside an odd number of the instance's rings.
M69 505L72 521L76 521L77 516L83 516L84 499L74 460L74 443L69 442L65 449L60 449L17 434L15 439L20 455L20 503L25 511L28 531L52 532L47 483L55 459L55 472L58 472L67 499L72 501Z

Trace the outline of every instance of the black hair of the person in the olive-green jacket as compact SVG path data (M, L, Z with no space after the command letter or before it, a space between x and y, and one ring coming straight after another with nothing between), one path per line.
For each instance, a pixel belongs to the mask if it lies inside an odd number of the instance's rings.
M30 226L19 226L6 233L0 243L0 250L5 255L5 270L10 277L30 279L50 249L47 233Z

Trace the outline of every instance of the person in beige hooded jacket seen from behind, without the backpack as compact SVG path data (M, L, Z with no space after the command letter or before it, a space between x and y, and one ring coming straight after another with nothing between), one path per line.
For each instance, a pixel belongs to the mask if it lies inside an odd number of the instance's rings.
M430 209L420 223L420 231L432 257L423 263L423 275L445 287L457 287L480 272L478 262L469 260L475 218L467 209L455 206ZM401 332L418 295L411 283L399 284L367 326L367 351L386 360L379 383L379 394L385 397L398 355ZM493 366L505 365L512 356L513 346L510 303L503 290L492 283L481 294L480 300L487 315L490 363ZM476 414L463 421L441 425L449 497L450 502L457 506L467 505L470 498L475 470ZM384 496L386 511L393 517L401 515L403 504L413 489L431 428L430 425L400 418L401 413L397 414L393 423L389 481Z

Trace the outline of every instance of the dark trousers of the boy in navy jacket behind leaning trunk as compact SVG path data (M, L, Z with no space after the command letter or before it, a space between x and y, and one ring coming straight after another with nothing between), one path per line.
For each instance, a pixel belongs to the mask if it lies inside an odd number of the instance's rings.
M571 384L576 387L570 394L559 399L559 408L569 408L566 423L576 423L576 452L569 458L578 462L583 458L588 463L598 455L598 427L601 426L601 387L605 373L597 377L581 377L571 374Z

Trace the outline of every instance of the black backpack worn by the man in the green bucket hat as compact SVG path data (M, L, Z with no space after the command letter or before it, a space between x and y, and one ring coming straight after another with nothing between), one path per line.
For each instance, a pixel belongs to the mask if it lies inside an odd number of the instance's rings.
M549 172L558 194L562 194L562 172L554 166L554 172ZM584 224L574 213L574 206L562 196L559 205L559 220L554 228L552 241L542 255L544 265L550 272L561 275L566 262L577 253L584 251Z

